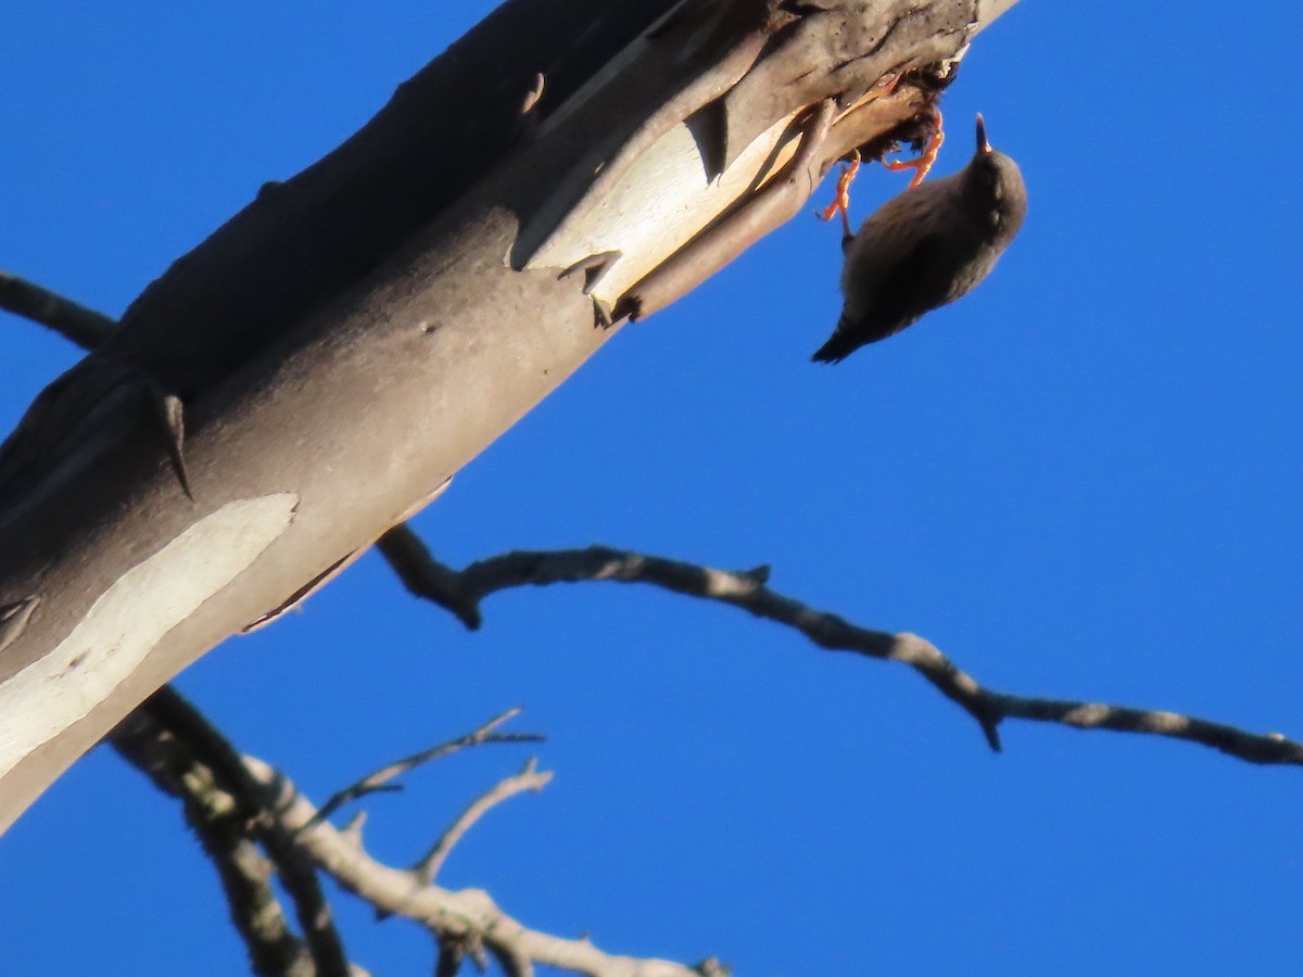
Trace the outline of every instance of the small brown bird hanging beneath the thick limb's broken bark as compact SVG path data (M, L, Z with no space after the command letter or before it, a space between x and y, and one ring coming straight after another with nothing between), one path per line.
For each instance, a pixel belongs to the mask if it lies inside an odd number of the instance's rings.
M810 358L840 362L971 292L995 267L1025 214L1023 175L990 147L979 115L977 152L967 167L891 198L857 234L847 225L846 305L833 336Z

